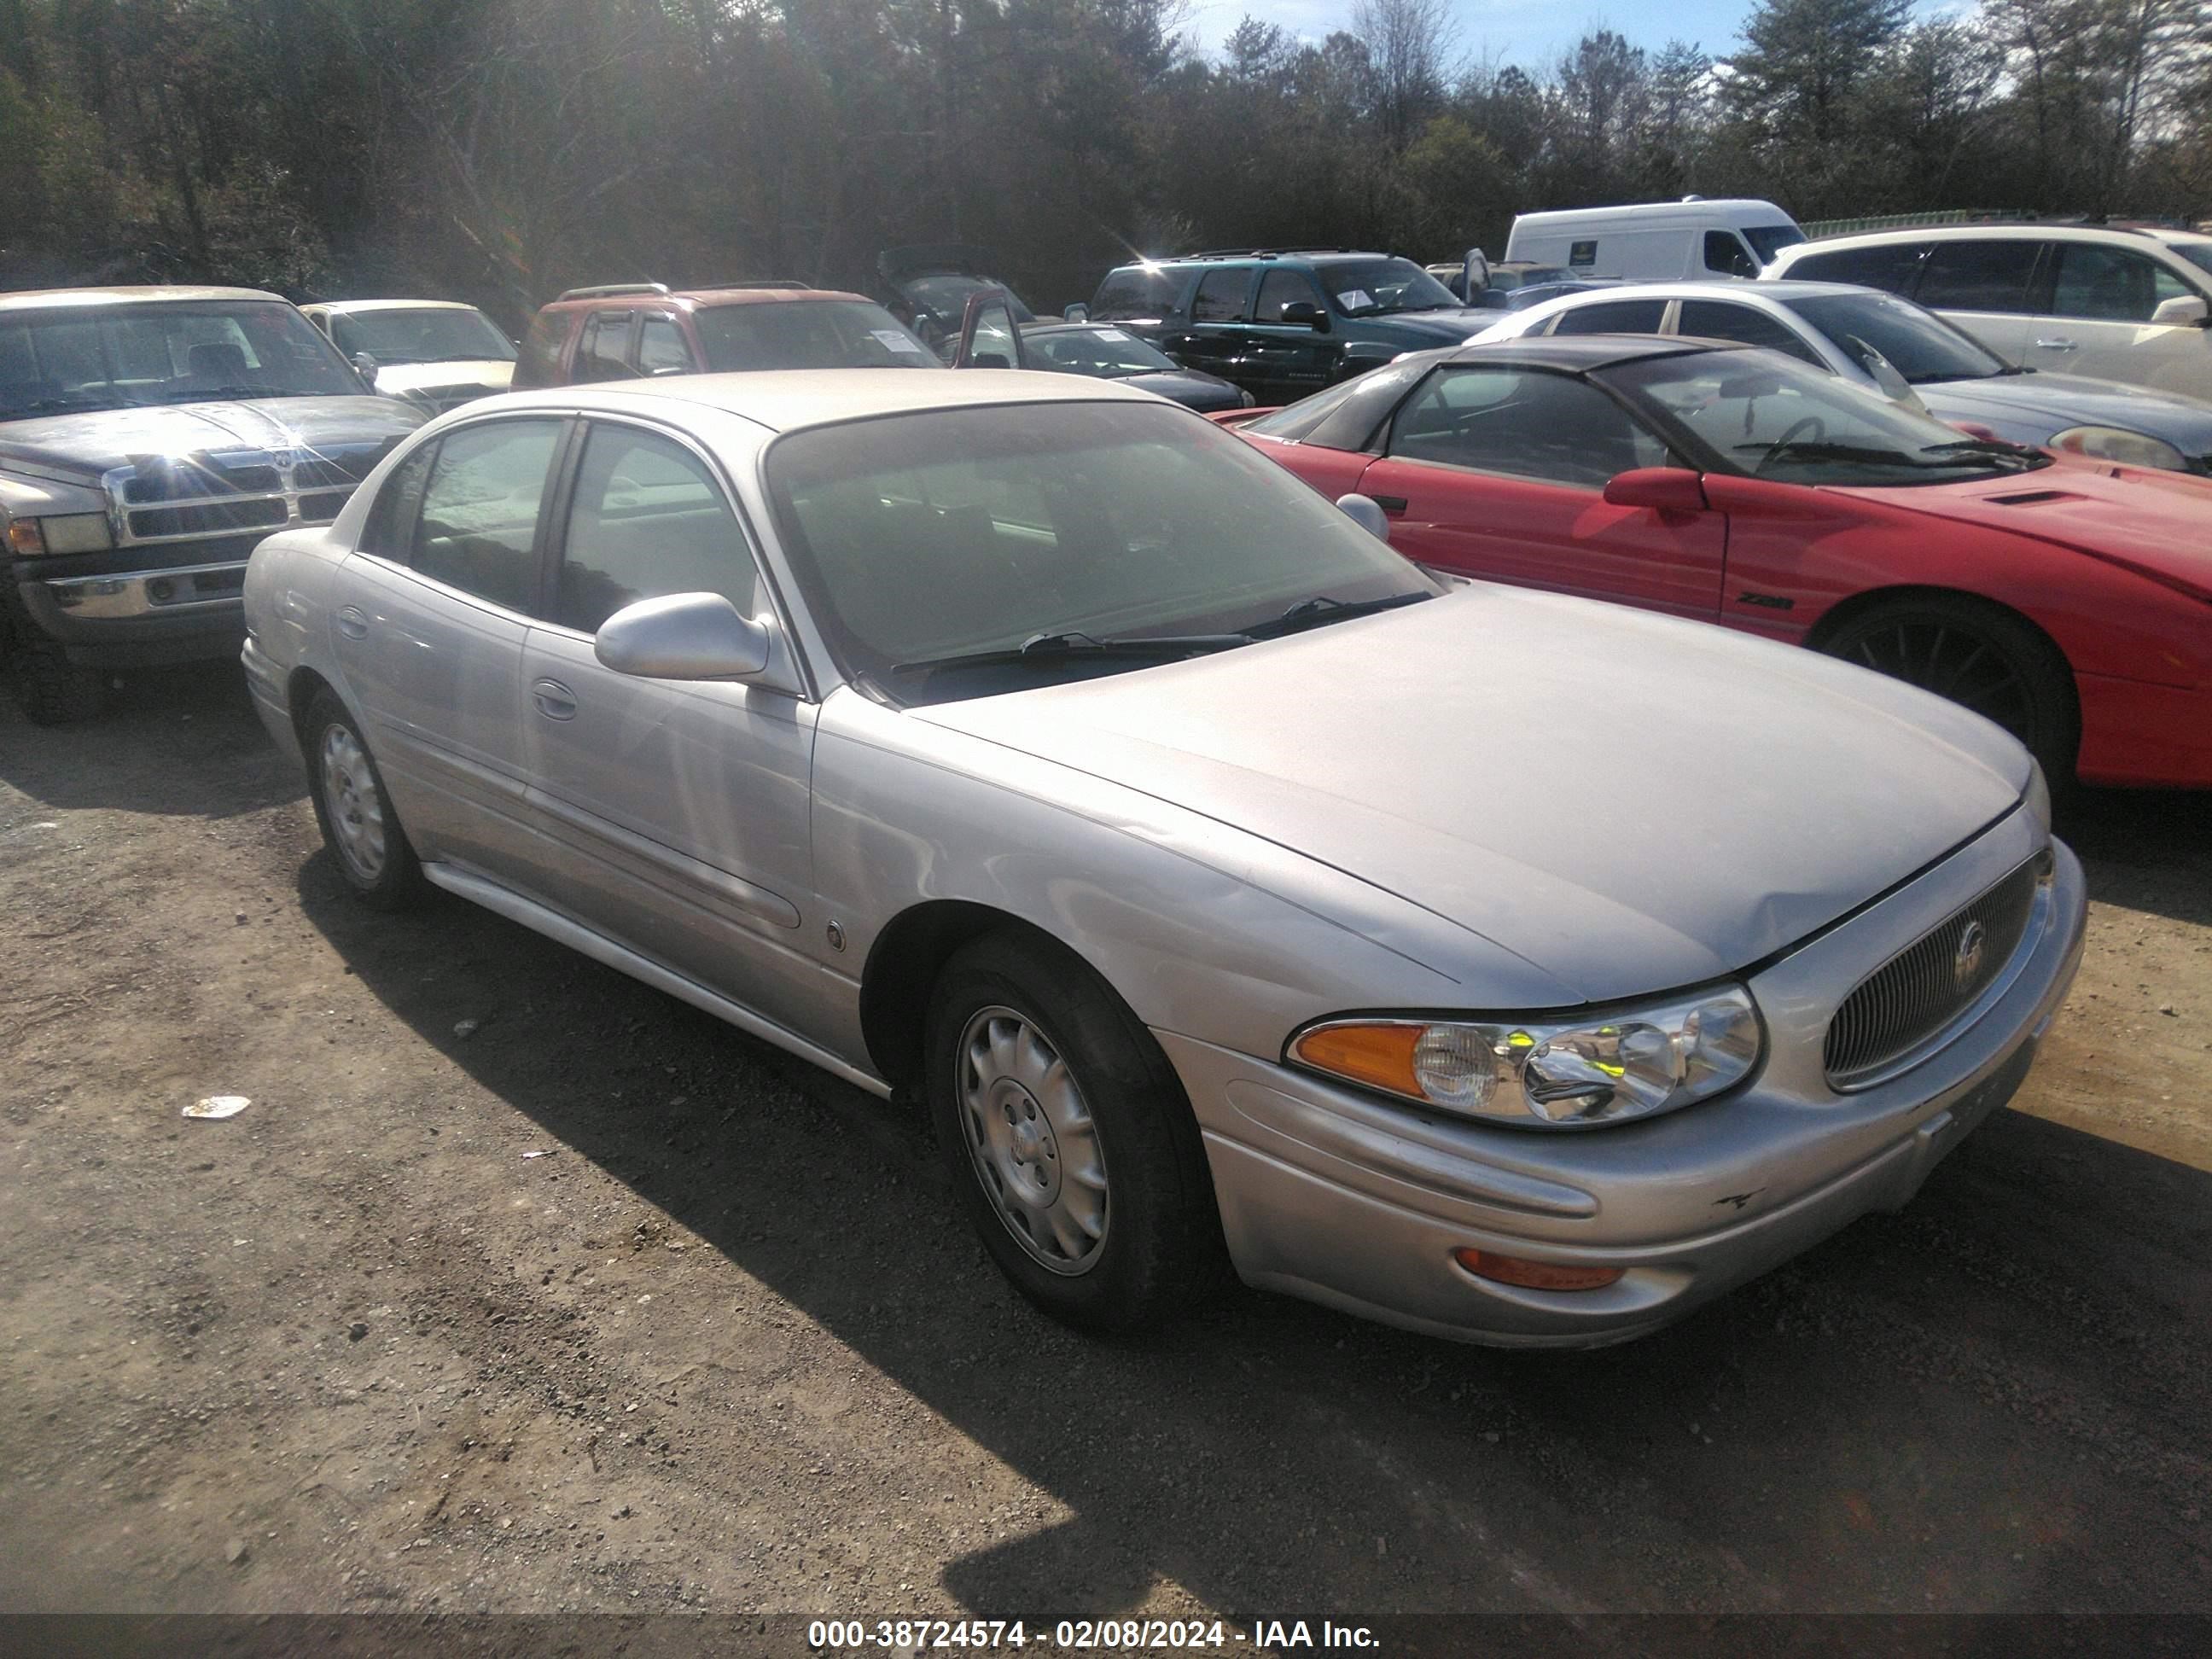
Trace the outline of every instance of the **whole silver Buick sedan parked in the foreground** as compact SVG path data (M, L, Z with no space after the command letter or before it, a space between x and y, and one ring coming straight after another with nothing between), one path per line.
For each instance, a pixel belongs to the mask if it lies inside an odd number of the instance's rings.
M1228 1261L1652 1329L1905 1203L2084 885L2026 752L1717 628L1442 588L1075 376L489 398L246 577L369 905L440 887L927 1108L1013 1283Z

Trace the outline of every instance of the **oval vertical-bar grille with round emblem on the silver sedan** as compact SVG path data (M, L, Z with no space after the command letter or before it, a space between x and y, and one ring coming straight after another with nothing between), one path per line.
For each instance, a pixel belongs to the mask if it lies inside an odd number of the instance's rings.
M1971 1009L2020 949L2048 872L2051 854L2031 858L1860 980L1827 1026L1829 1086L1865 1086Z

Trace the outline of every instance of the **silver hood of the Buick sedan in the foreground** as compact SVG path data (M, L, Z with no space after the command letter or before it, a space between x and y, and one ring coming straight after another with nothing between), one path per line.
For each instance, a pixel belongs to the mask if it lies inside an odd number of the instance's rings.
M1564 1002L1761 962L2004 816L2028 779L2011 737L1900 681L1480 582L911 712L1347 872L1544 969Z

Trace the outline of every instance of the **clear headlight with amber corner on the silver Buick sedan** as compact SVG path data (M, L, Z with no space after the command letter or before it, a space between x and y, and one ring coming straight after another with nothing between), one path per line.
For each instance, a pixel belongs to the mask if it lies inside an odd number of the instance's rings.
M1462 1117L1593 1128L1734 1088L1763 1046L1750 991L1725 987L1582 1020L1323 1020L1287 1055Z

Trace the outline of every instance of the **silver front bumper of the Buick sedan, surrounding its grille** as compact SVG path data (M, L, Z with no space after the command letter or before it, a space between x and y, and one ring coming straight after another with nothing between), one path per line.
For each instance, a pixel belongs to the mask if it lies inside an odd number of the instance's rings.
M1657 1329L1871 1210L1896 1210L2026 1077L2073 984L2088 907L2057 872L2008 978L1889 1082L1836 1095L1829 1013L1858 980L2028 858L2026 812L1750 978L1770 1051L1739 1093L1588 1133L1394 1106L1270 1060L1157 1033L1206 1137L1239 1274L1389 1325L1500 1347L1597 1347ZM1475 1279L1473 1245L1624 1267L1595 1292Z

